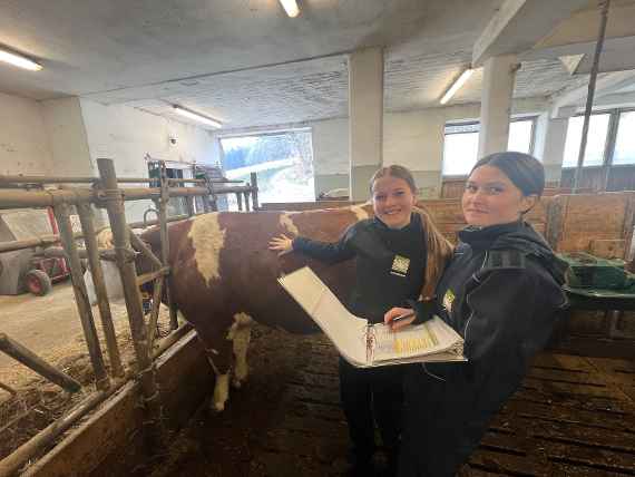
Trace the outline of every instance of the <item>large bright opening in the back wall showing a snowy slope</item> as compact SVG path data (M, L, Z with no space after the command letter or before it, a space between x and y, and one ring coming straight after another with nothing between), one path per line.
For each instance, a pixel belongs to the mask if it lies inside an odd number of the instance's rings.
M227 178L248 181L251 173L257 173L261 203L315 199L311 130L226 137L221 145ZM235 208L233 196L227 199Z

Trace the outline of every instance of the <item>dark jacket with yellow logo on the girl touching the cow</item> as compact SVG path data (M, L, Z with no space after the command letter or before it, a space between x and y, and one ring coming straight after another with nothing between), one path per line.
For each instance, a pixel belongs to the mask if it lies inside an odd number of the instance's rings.
M389 228L379 218L351 225L335 243L305 237L293 240L293 250L326 263L355 259L355 285L349 311L370 322L383 322L392 306L417 300L426 270L426 236L419 214L400 230Z

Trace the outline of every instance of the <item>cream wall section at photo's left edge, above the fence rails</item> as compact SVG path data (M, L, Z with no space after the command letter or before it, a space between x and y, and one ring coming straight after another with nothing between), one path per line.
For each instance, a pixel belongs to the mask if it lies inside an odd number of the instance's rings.
M0 93L0 174L45 175L51 169L39 103Z

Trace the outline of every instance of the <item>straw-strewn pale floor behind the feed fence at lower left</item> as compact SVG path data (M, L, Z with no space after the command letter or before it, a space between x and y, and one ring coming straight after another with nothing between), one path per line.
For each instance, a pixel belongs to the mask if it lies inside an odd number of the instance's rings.
M131 369L135 354L126 306L110 305L121 361ZM95 325L108 367L106 343L98 310ZM167 330L168 313L159 313L160 333ZM22 294L0 296L0 332L29 348L48 363L81 383L79 392L68 393L0 352L0 458L7 456L39 430L65 415L95 390L92 368L70 283L53 286L46 296Z

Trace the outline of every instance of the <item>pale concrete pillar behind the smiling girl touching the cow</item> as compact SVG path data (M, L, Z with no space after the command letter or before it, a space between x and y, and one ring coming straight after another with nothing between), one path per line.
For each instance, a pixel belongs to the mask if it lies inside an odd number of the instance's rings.
M369 197L368 184L382 164L383 50L367 48L349 57L351 199Z

